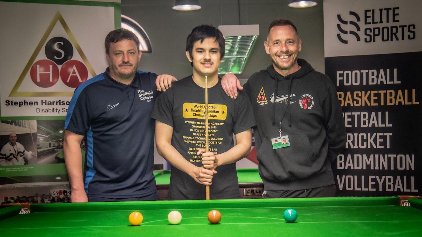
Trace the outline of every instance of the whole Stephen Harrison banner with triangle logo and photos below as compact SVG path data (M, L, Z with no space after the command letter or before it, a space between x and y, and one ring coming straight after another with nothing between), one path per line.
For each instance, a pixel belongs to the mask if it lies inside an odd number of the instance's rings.
M104 38L120 26L119 0L0 0L0 189L68 182L68 105L106 69Z

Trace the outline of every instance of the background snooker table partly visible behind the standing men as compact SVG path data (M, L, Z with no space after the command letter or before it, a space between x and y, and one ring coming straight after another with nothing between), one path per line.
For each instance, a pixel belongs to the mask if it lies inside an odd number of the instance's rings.
M170 183L170 170L158 170L154 172L157 183L158 197L160 200L168 199L168 184ZM240 198L261 198L264 184L258 169L238 169Z

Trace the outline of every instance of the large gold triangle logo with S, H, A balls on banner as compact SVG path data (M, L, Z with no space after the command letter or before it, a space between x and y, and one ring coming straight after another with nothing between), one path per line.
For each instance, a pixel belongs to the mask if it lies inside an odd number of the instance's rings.
M61 36L50 36L51 31L57 22L65 30L68 38ZM46 43L47 42L47 43ZM45 46L44 46L45 43ZM44 46L44 48L43 48ZM73 47L76 48L82 61L72 59L74 56ZM44 49L42 51L42 49ZM41 53L44 53L42 55ZM43 59L36 62L35 59L41 54ZM45 58L44 58L45 56ZM70 31L68 24L63 19L59 11L55 14L46 32L35 48L27 65L24 67L19 79L9 94L10 97L52 97L52 96L72 96L73 89L65 92L20 92L18 91L25 77L29 73L30 79L35 86L49 88L54 86L59 80L69 88L76 88L88 79L88 72L95 76L95 72L87 57L79 46L75 36Z

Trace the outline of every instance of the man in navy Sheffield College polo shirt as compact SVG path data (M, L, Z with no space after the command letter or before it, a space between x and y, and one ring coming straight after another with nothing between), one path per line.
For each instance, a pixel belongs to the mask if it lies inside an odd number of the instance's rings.
M150 118L158 93L155 81L165 81L160 88L165 90L176 78L137 71L139 40L129 30L111 31L105 46L106 72L75 90L66 116L63 148L71 202L157 200Z

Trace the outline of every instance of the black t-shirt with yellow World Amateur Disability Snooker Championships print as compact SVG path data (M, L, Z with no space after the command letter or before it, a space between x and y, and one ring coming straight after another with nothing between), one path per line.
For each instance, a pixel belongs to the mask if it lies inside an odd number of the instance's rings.
M173 127L171 144L187 161L202 166L199 148L205 148L205 89L192 76L173 83L155 102L154 118ZM238 134L255 125L251 102L244 92L238 99L228 97L218 83L208 88L209 151L221 154L234 146L233 133ZM211 199L239 198L236 165L216 168L210 186ZM169 199L205 199L205 186L192 177L171 167Z

